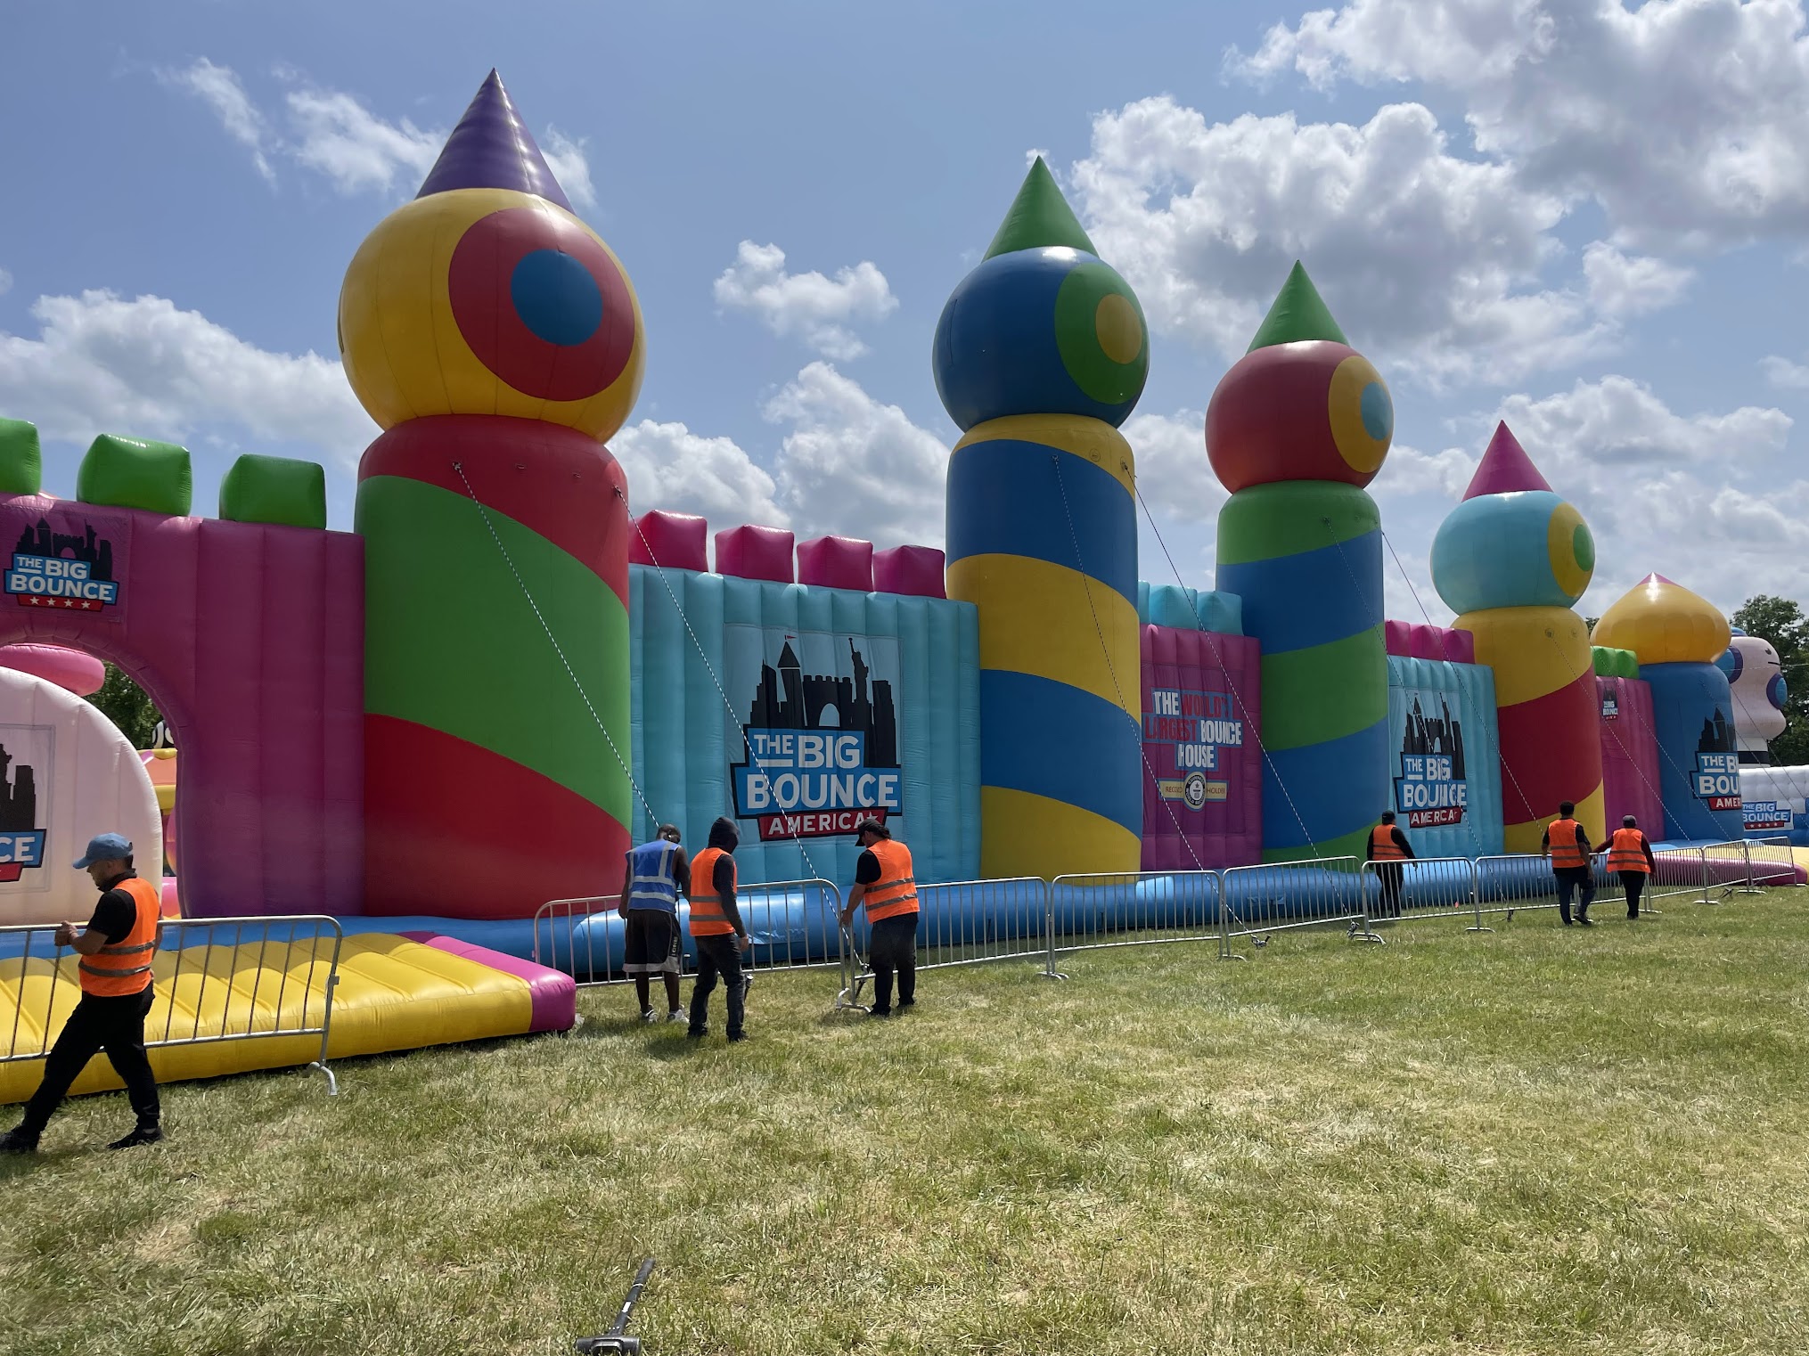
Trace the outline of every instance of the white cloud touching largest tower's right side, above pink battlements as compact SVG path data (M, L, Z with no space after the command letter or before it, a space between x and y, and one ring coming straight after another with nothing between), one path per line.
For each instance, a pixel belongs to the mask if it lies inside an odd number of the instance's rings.
M772 476L731 438L642 419L611 438L610 450L628 474L628 497L637 515L664 508L702 513L713 526L791 526L791 513L774 499Z

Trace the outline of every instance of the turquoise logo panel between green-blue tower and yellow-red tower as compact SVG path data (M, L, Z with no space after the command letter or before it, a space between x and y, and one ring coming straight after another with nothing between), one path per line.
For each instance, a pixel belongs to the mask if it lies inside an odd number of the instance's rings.
M1388 777L1415 855L1501 852L1494 669L1388 656Z

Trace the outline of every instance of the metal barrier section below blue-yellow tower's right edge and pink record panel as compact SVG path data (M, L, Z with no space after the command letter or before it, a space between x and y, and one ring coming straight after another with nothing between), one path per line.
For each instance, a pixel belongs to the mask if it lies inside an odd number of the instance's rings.
M1225 882L1217 871L1105 871L1049 884L1049 975L1060 951L1212 942Z

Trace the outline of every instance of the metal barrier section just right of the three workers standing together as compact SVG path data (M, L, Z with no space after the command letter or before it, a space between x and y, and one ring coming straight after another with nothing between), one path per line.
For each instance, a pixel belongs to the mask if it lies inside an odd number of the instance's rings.
M839 897L838 897L839 908ZM872 976L865 915L839 929L841 989L836 1009L861 1009L861 989ZM1049 951L1049 891L1038 877L952 880L917 886L917 969L980 965L990 960L1042 960Z

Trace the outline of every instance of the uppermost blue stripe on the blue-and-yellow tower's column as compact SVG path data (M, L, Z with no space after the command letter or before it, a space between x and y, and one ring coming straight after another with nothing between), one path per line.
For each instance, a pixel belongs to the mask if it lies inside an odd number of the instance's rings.
M1116 476L1073 452L1004 438L955 452L948 562L970 555L1028 555L1080 570L1136 607L1136 504Z

